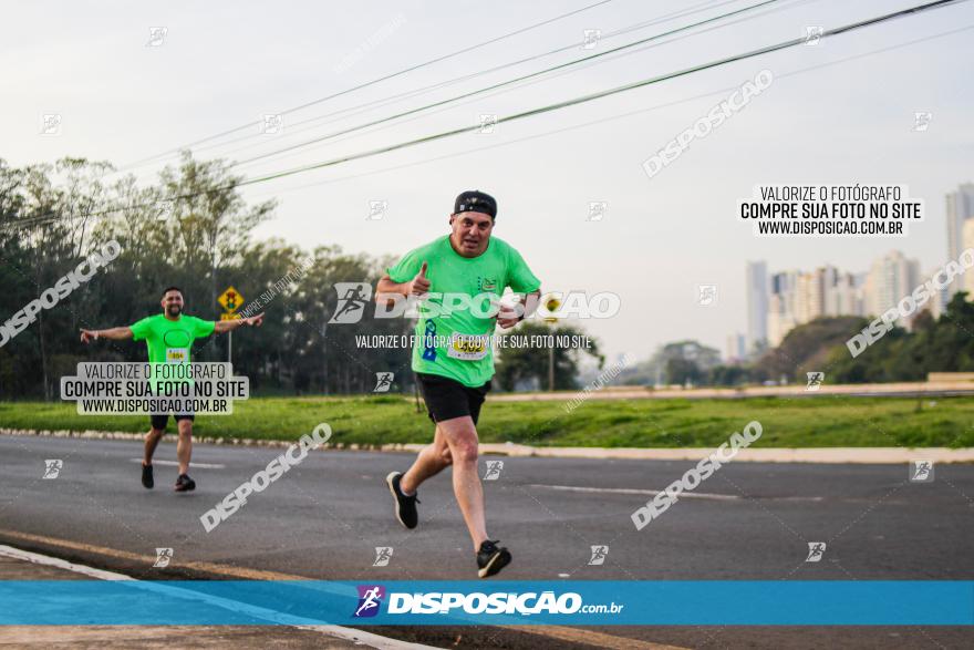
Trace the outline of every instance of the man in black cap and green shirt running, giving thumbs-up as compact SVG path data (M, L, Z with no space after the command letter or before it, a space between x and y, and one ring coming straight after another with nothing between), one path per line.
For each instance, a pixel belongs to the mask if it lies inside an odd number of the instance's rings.
M375 289L380 303L387 302L390 295L425 298L416 323L413 370L436 433L405 474L393 472L386 477L396 518L415 528L416 489L452 464L454 494L474 540L481 578L511 559L507 548L487 536L477 472L477 417L494 376L491 336L497 324L508 329L530 316L537 298L531 302L528 298L539 296L541 286L517 250L491 238L496 216L497 203L489 195L460 194L449 217L450 235L407 252ZM511 306L496 311L507 287L520 295L520 316Z

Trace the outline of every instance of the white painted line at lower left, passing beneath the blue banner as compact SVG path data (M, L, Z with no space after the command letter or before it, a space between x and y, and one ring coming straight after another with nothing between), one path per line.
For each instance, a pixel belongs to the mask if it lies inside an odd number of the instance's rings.
M61 558L50 557L46 555L40 555L37 553L30 553L27 550L21 550L19 548L13 548L12 546L0 545L0 556L11 557L14 559L27 560L38 565L44 565L49 567L55 567L59 569L65 569L69 571L74 571L76 574L81 574L83 576L87 576L90 578L97 578L99 580L124 580L133 582L133 587L147 589L151 591L160 591L167 596L175 596L177 598L187 598L189 600L203 600L210 605L216 605L217 607L222 607L225 609L229 609L231 611L239 611L246 615L252 616L255 618L261 618L265 620L271 620L280 623L284 623L289 627L298 628L301 630L311 630L315 632L320 632L323 634L328 634L330 637L335 637L339 639L344 639L346 641L352 641L355 643L360 643L363 646L369 646L371 648L376 648L377 650L426 650L434 649L433 646L423 646L422 643L408 643L406 641L398 641L396 639L388 639L386 637L380 637L379 634L373 634L372 632L364 632L362 630L356 630L353 628L345 628L342 626L321 626L321 625L304 625L302 623L303 619L299 617L294 617L291 615L282 613L279 611L274 611L272 609L267 609L263 607L257 607L253 605L248 605L246 602L239 602L237 600L230 600L228 598L220 598L217 596L210 596L208 594L200 594L198 591L193 591L190 589L180 589L177 587L173 587L168 584L168 581L163 580L136 580L129 576L125 576L123 574L116 574L113 571L104 571L102 569L96 569L94 567L89 567L85 565L79 565L74 563L69 563ZM178 582L177 582L178 584Z

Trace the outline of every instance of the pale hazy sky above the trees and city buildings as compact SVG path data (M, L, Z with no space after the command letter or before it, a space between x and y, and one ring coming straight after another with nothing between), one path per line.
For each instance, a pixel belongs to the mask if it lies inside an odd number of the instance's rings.
M24 165L73 155L122 166L593 1L9 2L0 23L0 157ZM245 141L197 155L242 161L753 3L613 0L284 115L282 134L259 134L252 126L226 138L249 136ZM237 172L259 175L404 142L474 124L480 114L516 113L792 39L807 25L828 29L919 3L781 0L722 29L671 37L665 44ZM580 43L586 29L608 34L696 8L706 10L603 38L594 50L577 47L395 104L360 109L340 122L294 125ZM147 47L151 27L166 28L158 47ZM745 260L765 259L770 271L826 262L862 271L899 248L919 258L924 270L946 261L944 195L974 179L974 30L930 37L971 27L974 3L961 2L816 47L499 124L491 134L464 134L245 194L279 200L276 218L261 226L259 237L381 255L405 252L445 234L456 194L479 188L497 197L495 234L522 252L545 289L619 293L619 316L584 323L611 355L645 358L681 338L723 351L728 333L745 331ZM645 158L761 69L776 78L768 90L655 177L646 176ZM918 111L933 114L922 133L912 130ZM45 113L61 115L60 135L39 133ZM629 113L634 114L612 118ZM591 122L598 123L579 126ZM134 172L151 179L159 166ZM905 239L759 239L735 219L736 202L749 197L754 185L770 183L908 185L925 200L928 220L914 224ZM388 202L384 219L366 220L371 200ZM605 218L587 221L589 203L602 200L609 206ZM716 305L697 305L700 283L718 286ZM246 287L238 288L246 295Z

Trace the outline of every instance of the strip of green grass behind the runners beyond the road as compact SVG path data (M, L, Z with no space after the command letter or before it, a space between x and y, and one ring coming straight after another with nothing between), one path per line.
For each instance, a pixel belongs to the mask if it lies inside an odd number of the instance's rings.
M480 415L481 442L539 446L714 447L757 420L757 447L974 446L974 398L815 396L742 400L497 402ZM256 398L227 416L199 416L199 436L296 440L328 422L336 444L425 443L425 411L400 396ZM0 402L0 427L144 432L148 417L77 415L73 403ZM169 423L169 431L174 431Z

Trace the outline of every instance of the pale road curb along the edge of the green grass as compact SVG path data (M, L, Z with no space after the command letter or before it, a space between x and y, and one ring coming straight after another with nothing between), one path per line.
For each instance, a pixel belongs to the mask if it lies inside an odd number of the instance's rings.
M70 431L0 429L0 435L80 437L89 440L127 440L141 442L144 434L122 431ZM256 447L289 447L298 441L256 440L248 437L195 437L197 444ZM425 447L418 443L385 445L322 445L319 451L415 453ZM711 447L642 448L642 447L535 447L514 443L481 443L481 454L536 458L595 458L630 461L700 461L713 453ZM744 463L837 463L895 465L911 461L934 463L974 463L974 447L798 447L743 448L734 457Z

